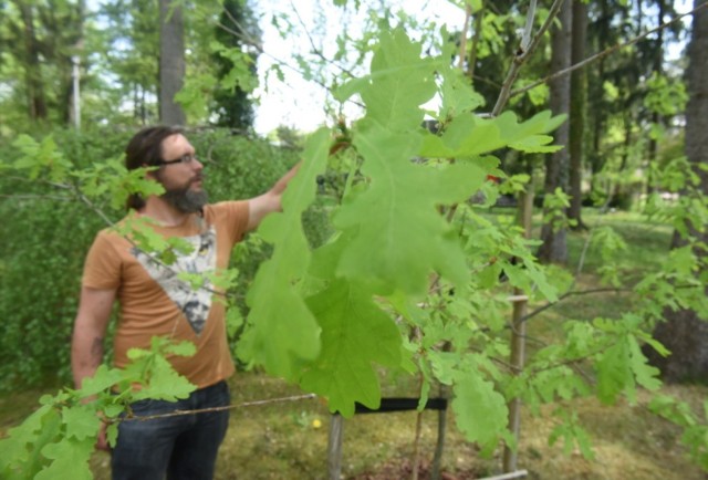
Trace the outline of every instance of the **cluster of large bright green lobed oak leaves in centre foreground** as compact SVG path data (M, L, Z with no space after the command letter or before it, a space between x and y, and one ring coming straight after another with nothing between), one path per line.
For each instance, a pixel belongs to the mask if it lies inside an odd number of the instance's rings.
M514 284L528 289L529 293L539 285L550 299L555 299L555 293L534 264L518 229L502 233L488 223L489 236L497 238L490 238L488 250L480 249L483 234L475 223L450 225L442 219L438 208L465 201L482 185L494 161L480 155L507 145L529 150L546 148L544 145L550 137L538 135L546 133L561 119L542 114L529 123L519 124L513 116L506 115L497 122L477 124L467 112L459 112L471 123L466 123L462 128L462 123L456 123L459 117L451 118L441 140L436 144L438 140L435 138L438 137L426 137L420 131L423 112L419 105L435 94L434 73L444 70L441 61L421 59L420 45L410 42L402 30L394 30L382 35L372 59L371 74L342 87L341 98L357 93L368 108L366 116L352 128L352 145L362 161L353 164L355 169L341 204L332 212L332 226L336 232L330 242L312 252L308 271L305 267L310 257L306 250L303 251L302 236L298 232L300 227L289 217L296 216L303 206L294 204L291 207L285 201L284 217L273 217L272 221L263 223L261 234L274 243L274 254L261 267L249 293L253 310L247 325L248 342L241 354L247 359L263 363L269 372L277 375L304 371L300 378L304 388L326 397L331 410L352 415L355 401L374 407L378 404L381 393L372 369L373 362L387 366L396 366L397 363L410 365L410 353L420 352L424 356L417 362L421 372L427 373L426 385L429 387L436 378L452 385L459 398L455 408L461 430L470 439L491 446L496 439L506 437L504 396L496 387L503 374L487 357L489 354L503 355L508 349L500 335L503 321L497 317L503 302L497 301L496 315L487 313L485 321L475 320L481 317L482 312L489 312L493 301L485 299L481 291L476 292L479 286L470 290L470 261L480 265L489 262L494 253L499 254L502 246L509 257L490 269L491 274L479 279L481 285L494 286L493 279L503 269L514 279ZM441 79L454 81L454 75L441 74ZM440 92L459 94L445 82ZM446 115L449 114L448 109ZM310 145L322 135L317 134ZM482 143L481 147L475 146L475 142L482 137L490 140ZM426 150L426 142L441 147L428 147ZM421 153L441 158L410 161ZM447 164L442 160L460 154L462 161ZM304 178L313 179L314 173L321 173L319 165L305 155ZM299 191L299 184L295 191ZM300 198L299 194L293 195ZM294 210L289 212L289 208ZM459 210L475 215L461 206ZM363 218L366 221L363 222ZM481 222L480 217L475 218ZM284 225L281 225L274 230L277 223L284 223L288 228L283 230ZM456 233L458 227L465 232L462 237ZM478 251L467 258L475 250ZM530 273L514 270L511 255L522 259ZM274 270L277 265L280 270ZM459 296L456 294L454 299L445 300L439 294L431 294L429 302L440 306L420 307L416 299L426 294L430 275L435 272L440 275L437 282L441 291L455 289ZM260 282L269 290L263 290ZM279 284L280 288L273 289ZM266 292L269 293L267 296ZM287 298L279 296L273 302L273 294ZM301 309L294 294L300 298L309 295L309 310ZM266 298L270 303L263 305ZM277 310L273 304L278 305ZM404 331L419 331L419 340L406 345L407 353L403 357L404 342L399 334L394 335L391 309L409 322L408 326L400 326ZM282 319L283 311L288 312L287 319ZM302 322L299 319L309 319L309 315L316 319L322 330L322 347L314 362L306 357L310 352L293 355L295 351L289 346L290 338L279 341L279 336L273 336L273 332L281 328L275 326L277 321L289 322L298 325L289 334L301 340L301 347L310 345L310 341L302 343L303 327L299 323ZM470 323L476 327L470 328ZM266 336L264 332L269 335ZM369 338L371 332L379 333L375 349L363 347L364 332L368 332ZM262 338L260 343L249 344L259 335ZM449 342L454 349L449 354L436 353L438 345L445 342ZM483 354L469 352L470 343L480 345ZM304 367L301 366L303 363ZM479 396L480 392L486 395ZM483 421L478 415L480 409Z

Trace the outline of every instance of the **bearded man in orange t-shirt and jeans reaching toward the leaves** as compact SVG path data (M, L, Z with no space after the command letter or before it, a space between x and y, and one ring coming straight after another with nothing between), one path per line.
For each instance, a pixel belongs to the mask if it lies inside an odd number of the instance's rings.
M160 196L132 196L127 218L145 217L165 238L180 237L194 251L178 253L165 265L108 229L98 232L86 257L81 301L74 324L72 369L76 387L92 376L103 358L103 340L115 300L121 321L114 341L114 363L127 364L127 351L149 348L155 335L190 341L191 357L174 357L175 369L197 386L177 404L144 400L136 415L175 409L194 410L229 405L226 384L235 371L226 338L225 305L215 301L210 285L192 290L178 272L208 273L226 269L232 247L281 208L281 196L296 167L266 194L243 201L207 204L204 165L179 129L148 127L128 143L126 167L156 167L146 174L165 189ZM123 220L123 222L126 221ZM210 479L217 450L226 435L228 410L150 421L124 421L112 455L114 480ZM107 449L105 432L98 448Z

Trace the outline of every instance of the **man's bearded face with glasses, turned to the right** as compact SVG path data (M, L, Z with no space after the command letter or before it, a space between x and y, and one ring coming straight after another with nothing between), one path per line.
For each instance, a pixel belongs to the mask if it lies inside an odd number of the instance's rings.
M195 157L191 144L180 134L165 138L163 159L154 174L165 188L160 198L185 213L201 210L208 200L201 184L204 165Z

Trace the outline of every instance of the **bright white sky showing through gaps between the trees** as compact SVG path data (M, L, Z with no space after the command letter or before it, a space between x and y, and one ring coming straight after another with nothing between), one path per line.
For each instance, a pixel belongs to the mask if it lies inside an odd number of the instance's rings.
M367 0L358 0L367 3ZM368 3L374 0L368 0ZM451 0L384 0L388 6L396 6L404 9L408 14L419 19L434 20L436 23L445 23L450 30L460 30L465 20L462 8ZM356 0L347 0L346 9L334 7L333 0L260 0L258 10L263 13L261 18L261 29L263 31L262 42L266 54L259 58L258 71L260 84L254 94L259 104L256 106L254 129L261 135L275 129L279 125L292 127L302 133L316 129L324 123L331 123L324 111L326 92L312 81L305 81L301 74L283 69L284 82L279 81L274 74L267 76L269 67L275 63L274 59L285 61L291 65L296 63L292 60L293 52L305 53L311 50L311 41L305 34L305 30L314 31L315 20L320 18L319 12L325 13L325 23L319 25L323 36L321 44L325 50L325 55L334 52L334 40L336 34L347 28L351 35L357 35L364 21L361 14L356 14ZM686 12L691 9L691 0L676 0L674 2L677 12ZM364 9L360 9L364 10ZM283 40L278 30L271 24L271 19L275 14L288 14L293 18L293 33L288 40ZM689 18L686 19L689 22ZM320 43L320 38L313 35L313 40ZM674 46L670 55L678 56L683 46ZM356 108L352 107L347 113L357 115Z

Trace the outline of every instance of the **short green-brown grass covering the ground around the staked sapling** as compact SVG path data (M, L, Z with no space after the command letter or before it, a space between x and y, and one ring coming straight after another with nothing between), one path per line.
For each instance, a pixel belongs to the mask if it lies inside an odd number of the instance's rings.
M666 255L670 228L639 220L628 213L604 217L587 215L591 226L615 227L631 249L620 259L621 267L634 279ZM569 269L575 270L589 232L569 236ZM597 269L602 265L596 247L587 250L583 273L575 289L598 286ZM626 294L600 293L579 295L534 317L530 335L552 337L566 319L618 317L632 306ZM413 395L410 378L383 376L384 395ZM666 393L693 405L708 397L708 388L696 385L666 386ZM242 373L231 380L233 404L301 395L296 387L258 373ZM0 435L34 408L41 392L15 393L0 399ZM529 479L631 479L698 480L706 473L693 466L679 444L680 431L652 415L646 408L648 395L639 394L636 405L620 401L605 406L592 398L574 403L581 425L590 432L594 459L585 459L576 448L568 455L563 444L550 446L548 438L559 421L554 406L545 406L541 415L524 410L519 445L520 469ZM438 414L423 413L420 438L420 478L428 478L437 438ZM217 479L326 479L327 437L331 417L316 399L274 403L235 408L230 428L218 460ZM500 451L482 458L477 447L465 441L448 413L448 432L444 456L445 477L473 479L500 472ZM344 421L342 453L343 478L378 480L410 478L416 413L358 415ZM92 468L98 480L110 478L108 456L96 453Z

